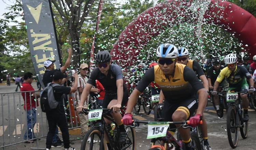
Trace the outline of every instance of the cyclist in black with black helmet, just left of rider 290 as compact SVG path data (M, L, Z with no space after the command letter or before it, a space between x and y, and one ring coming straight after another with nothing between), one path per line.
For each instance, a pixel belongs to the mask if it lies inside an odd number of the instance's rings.
M216 79L217 79L219 73L221 72L221 70L224 68L224 66L221 66L221 61L219 61L218 58L214 58L212 62L213 62L213 66L207 72L207 80L208 80L208 83L209 83L210 91L213 90L214 82L216 81ZM220 83L220 86L226 86L226 85L228 85L227 81L222 80L222 82ZM220 90L221 89L217 88L218 92ZM213 96L213 101L214 101L214 104L216 106L217 115L219 117L223 117L223 116L221 116L221 110L219 109L219 104L220 104L219 96L217 96L217 95Z

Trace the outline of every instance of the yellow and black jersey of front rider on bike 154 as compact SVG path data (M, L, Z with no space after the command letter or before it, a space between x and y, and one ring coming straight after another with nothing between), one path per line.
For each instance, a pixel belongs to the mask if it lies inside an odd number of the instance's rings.
M174 75L169 78L166 78L159 65L155 65L145 73L136 89L143 92L152 81L159 85L166 100L170 102L184 101L203 88L195 72L180 63L175 64Z

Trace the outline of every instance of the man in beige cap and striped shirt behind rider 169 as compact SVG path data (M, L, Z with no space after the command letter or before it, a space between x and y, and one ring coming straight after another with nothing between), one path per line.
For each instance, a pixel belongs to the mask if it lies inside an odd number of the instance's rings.
M88 73L89 67L88 64L82 63L80 65L80 74L78 75L78 80L77 80L77 90L75 91L75 99L76 99L76 106L79 106L80 104L80 95L82 94L86 82L88 80L87 73ZM97 88L91 88L90 92L97 93L98 89ZM87 103L84 103L84 107L88 107ZM81 124L81 135L84 137L84 135L88 131L88 116L85 114L79 114L78 115L80 124Z

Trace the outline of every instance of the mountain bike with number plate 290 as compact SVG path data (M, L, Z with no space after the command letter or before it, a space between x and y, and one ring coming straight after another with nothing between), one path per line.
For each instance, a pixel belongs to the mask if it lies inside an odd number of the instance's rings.
M238 144L238 128L243 139L248 136L248 121L243 121L244 111L241 106L240 93L250 94L245 92L219 93L227 94L227 134L229 145L232 148L236 148Z

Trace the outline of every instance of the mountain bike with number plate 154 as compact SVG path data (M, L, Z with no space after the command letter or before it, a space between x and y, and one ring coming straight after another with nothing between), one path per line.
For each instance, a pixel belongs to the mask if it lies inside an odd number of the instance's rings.
M180 121L180 122L153 122L153 121L139 121L134 120L133 124L129 127L136 127L140 126L140 123L148 124L148 134L147 139L151 138L151 147L154 147L156 143L159 143L161 146L164 147L165 150L178 150L182 149L182 139L181 137L177 137L177 140L172 136L169 130L169 125L172 124L181 124L179 127L175 128L178 129L180 127L187 129L192 128L189 126L189 121ZM202 123L202 122L200 122ZM178 133L179 134L179 133ZM159 137L160 136L160 137ZM193 149L201 150L200 141L197 134L193 131L190 131L191 136L191 143Z

